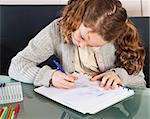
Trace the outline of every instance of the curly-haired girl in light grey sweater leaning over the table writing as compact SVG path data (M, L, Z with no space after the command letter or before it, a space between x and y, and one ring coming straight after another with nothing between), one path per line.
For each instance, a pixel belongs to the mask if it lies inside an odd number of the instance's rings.
M82 72L100 87L145 87L145 52L118 0L69 0L61 18L39 32L11 61L13 79L36 86L71 88L75 76L37 65L55 54L66 72Z

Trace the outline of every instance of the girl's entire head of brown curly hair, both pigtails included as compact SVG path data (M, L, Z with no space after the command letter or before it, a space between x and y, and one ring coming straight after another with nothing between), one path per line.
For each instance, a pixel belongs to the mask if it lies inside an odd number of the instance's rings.
M128 74L143 70L145 51L139 33L118 0L69 0L59 21L65 42L80 24L92 29L116 48L116 67Z

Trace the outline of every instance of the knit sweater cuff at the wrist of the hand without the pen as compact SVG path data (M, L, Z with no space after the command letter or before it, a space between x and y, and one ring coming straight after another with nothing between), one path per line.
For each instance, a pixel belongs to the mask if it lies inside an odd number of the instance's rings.
M124 68L113 68L112 71L115 71L115 73L119 76L119 78L123 81L124 85L128 84L128 81L130 79L129 74Z

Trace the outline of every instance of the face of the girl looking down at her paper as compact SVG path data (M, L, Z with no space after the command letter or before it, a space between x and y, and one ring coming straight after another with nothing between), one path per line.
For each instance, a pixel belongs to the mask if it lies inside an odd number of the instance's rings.
M98 47L107 43L107 41L104 41L99 34L90 31L92 31L92 29L87 28L81 24L79 29L72 33L73 43L81 48L86 46Z

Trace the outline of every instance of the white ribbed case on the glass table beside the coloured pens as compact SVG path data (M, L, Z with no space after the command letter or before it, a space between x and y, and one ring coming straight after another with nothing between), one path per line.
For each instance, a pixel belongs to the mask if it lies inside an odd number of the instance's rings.
M20 82L0 84L0 104L20 102L23 100L23 93Z

